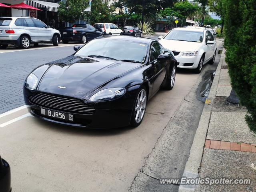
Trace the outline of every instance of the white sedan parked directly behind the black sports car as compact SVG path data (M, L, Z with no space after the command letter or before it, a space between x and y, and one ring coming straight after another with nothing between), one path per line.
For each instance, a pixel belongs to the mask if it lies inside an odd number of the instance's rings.
M174 28L159 42L172 50L178 62L178 68L195 69L200 73L204 64L214 63L216 40L210 30L204 28Z

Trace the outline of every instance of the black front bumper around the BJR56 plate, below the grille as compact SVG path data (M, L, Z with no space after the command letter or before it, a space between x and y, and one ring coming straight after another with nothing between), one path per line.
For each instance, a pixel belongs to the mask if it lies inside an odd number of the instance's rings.
M96 104L94 107L95 112L93 114L78 114L32 104L28 98L29 95L29 91L24 88L24 100L27 105L28 112L30 112L30 114L32 114L33 116L36 116L42 120L47 120L58 124L84 128L118 128L128 126L130 124L132 106L134 102L133 98L123 98L122 100L120 98L120 101L117 102L112 101L103 102L102 104ZM43 116L40 114L41 108L66 114L73 114L74 121L70 122L51 118L48 116Z

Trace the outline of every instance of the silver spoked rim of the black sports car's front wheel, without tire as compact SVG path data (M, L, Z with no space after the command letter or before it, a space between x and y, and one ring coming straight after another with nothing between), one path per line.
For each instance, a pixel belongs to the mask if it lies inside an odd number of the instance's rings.
M146 90L142 89L140 93L138 94L136 105L135 105L135 121L137 123L140 123L143 119L143 116L145 114L146 110L146 104L147 104L147 94Z

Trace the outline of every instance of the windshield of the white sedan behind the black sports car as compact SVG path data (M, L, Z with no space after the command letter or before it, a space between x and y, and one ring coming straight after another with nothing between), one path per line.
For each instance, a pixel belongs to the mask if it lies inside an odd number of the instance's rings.
M164 37L164 39L190 41L190 42L202 42L203 36L204 36L204 32L200 32L200 31L172 30L169 34L166 35L166 37Z

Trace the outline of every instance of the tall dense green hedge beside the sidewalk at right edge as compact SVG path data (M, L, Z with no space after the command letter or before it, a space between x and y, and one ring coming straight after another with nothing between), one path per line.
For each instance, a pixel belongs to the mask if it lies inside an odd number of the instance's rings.
M232 88L248 109L248 126L256 132L256 0L222 0L221 3Z

